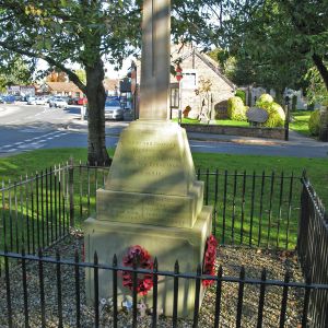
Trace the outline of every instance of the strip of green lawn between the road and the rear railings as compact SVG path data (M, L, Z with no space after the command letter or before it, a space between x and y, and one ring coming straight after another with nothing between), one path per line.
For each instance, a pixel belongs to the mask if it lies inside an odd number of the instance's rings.
M108 150L113 155L114 150ZM235 169L239 173L246 171L253 173L255 169L258 174L262 171L270 173L276 171L285 174L294 173L300 176L303 169L315 186L317 194L325 203L328 203L328 160L327 159L297 159L297 157L279 157L279 156L256 156L256 155L232 155L216 153L194 153L195 167L210 171L227 169L230 173ZM33 175L50 166L62 164L72 157L74 163L86 162L86 149L52 149L36 150L24 154L13 155L0 159L0 178L4 181L19 180L23 177Z

